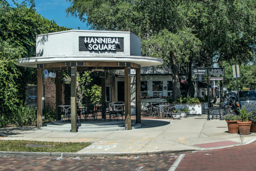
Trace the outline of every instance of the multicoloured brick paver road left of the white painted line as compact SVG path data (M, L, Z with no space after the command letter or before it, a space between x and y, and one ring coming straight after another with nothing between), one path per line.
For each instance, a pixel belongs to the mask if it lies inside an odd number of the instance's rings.
M0 157L0 170L168 171L175 154L129 157Z

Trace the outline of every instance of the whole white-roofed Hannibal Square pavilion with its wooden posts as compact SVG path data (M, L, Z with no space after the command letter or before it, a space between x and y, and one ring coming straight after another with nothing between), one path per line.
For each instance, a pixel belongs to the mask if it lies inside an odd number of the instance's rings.
M37 128L42 125L42 73L56 71L56 120L60 118L61 72L71 71L71 132L77 132L77 71L101 71L102 103L106 102L106 71L124 69L125 129L131 129L131 69L136 69L136 123L141 123L140 67L161 65L162 59L141 56L140 38L131 32L68 30L36 36L36 57L17 65L37 68ZM47 90L45 90L47 91Z

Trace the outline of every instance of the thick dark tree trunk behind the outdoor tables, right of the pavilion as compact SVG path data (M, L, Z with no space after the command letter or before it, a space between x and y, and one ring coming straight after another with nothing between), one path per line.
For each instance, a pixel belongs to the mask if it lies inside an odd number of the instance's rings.
M172 99L173 101L180 98L180 80L178 77L179 71L178 71L178 65L175 62L175 54L173 52L170 53L171 56L171 63L172 63Z

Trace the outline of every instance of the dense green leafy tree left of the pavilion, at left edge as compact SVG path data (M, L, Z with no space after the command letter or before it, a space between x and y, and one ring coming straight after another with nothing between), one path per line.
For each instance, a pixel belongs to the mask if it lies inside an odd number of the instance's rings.
M28 4L26 4L28 2ZM16 60L36 56L36 35L67 30L39 15L33 0L10 6L0 1L0 127L25 98L27 83L36 82L36 70L19 67Z

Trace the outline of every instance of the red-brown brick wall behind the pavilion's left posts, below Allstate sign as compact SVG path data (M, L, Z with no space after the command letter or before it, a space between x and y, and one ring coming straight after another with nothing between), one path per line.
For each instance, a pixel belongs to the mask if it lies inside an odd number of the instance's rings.
M55 78L43 79L44 85L44 107L55 110L56 91ZM61 104L64 104L64 84L61 84Z

